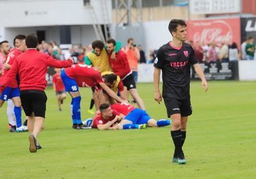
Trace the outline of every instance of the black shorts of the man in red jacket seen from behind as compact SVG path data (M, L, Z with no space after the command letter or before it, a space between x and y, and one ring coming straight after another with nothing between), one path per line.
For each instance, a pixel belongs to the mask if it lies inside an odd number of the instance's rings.
M20 91L20 100L26 116L45 118L47 97L44 91L28 89Z

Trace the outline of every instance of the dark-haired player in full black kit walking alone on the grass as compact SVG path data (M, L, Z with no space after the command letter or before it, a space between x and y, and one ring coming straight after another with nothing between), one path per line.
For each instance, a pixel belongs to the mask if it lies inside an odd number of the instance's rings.
M184 20L173 19L169 24L173 40L164 44L157 51L154 63L154 98L160 104L162 96L159 91L159 78L163 72L163 99L168 118L172 119L171 136L175 146L172 162L186 164L182 150L186 138L188 116L192 114L189 83L190 68L193 65L202 81L204 91L208 84L199 65L193 47L184 43L187 39L187 25Z

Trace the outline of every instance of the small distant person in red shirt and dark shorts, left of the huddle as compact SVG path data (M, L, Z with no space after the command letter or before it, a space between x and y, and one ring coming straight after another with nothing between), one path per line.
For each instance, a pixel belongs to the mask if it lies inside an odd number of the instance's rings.
M58 110L61 111L61 104L63 104L63 100L67 98L67 94L65 91L65 86L63 84L63 81L60 77L61 68L54 68L54 71L56 72L56 74L54 74L52 77L52 87L56 93L58 106L59 106Z

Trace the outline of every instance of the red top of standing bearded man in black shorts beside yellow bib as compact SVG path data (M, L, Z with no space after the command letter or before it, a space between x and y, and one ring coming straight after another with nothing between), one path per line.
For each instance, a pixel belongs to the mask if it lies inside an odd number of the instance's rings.
M131 73L131 68L128 63L127 56L125 52L118 51L116 53L116 59L111 59L111 54L108 56L109 64L111 65L113 72L124 79L126 75Z

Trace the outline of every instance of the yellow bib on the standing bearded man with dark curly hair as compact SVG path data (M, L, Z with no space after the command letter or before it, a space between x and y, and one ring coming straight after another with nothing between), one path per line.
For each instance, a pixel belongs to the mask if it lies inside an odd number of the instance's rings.
M108 53L105 49L102 49L100 52L100 56L96 56L93 52L89 52L87 57L92 62L92 66L96 68L100 73L110 71L112 72L112 68L109 65L108 61Z

